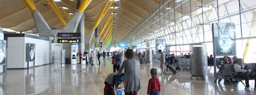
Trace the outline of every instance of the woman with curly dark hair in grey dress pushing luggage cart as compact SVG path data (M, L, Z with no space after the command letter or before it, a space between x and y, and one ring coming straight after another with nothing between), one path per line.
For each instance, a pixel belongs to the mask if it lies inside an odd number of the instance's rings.
M124 92L126 95L137 95L140 89L140 78L137 74L137 64L134 58L134 51L132 49L127 49L126 60L122 62L122 66L118 70L120 75L124 69Z

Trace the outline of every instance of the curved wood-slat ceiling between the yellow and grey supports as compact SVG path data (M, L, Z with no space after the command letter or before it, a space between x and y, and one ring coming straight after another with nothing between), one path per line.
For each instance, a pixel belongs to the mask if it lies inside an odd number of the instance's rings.
M119 9L114 10L117 15L114 16L114 36L113 44L124 40L132 30L145 18L147 13L150 13L152 7L163 0L120 0L114 2L113 6L119 6ZM171 0L173 1L173 0ZM200 0L192 0L194 3L200 3ZM207 0L208 1L208 0ZM210 1L210 0L209 0ZM49 6L47 0L33 0L36 9L43 15L46 22L52 29L62 29L64 26L58 19L53 9ZM109 1L110 3L111 1ZM105 5L106 0L92 0L87 9L85 9L85 28L92 29L101 9ZM65 13L74 13L77 8L76 0L62 0L56 2L58 7L67 7L63 10L59 8L62 17L68 21L69 16ZM1 0L0 6L0 28L12 29L14 31L36 33L35 22L32 17L32 12L22 0ZM101 20L98 28L101 29L103 24L111 13L108 10L103 20ZM179 11L179 10L177 10ZM186 12L186 11L185 11Z

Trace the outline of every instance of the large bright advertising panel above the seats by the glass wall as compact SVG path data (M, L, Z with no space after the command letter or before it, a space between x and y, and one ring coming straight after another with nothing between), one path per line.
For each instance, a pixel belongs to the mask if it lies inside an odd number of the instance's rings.
M216 56L236 55L234 23L213 23L213 48Z

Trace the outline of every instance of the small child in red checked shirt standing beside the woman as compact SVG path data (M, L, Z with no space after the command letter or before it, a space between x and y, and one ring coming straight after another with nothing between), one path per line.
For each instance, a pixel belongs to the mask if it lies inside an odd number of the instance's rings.
M160 81L157 78L157 72L155 68L150 70L151 77L148 81L148 91L147 94L150 95L159 95L161 91Z

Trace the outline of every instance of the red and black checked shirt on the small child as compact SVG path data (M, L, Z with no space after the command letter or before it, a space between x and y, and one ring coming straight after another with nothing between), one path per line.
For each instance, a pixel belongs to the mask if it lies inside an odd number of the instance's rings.
M147 94L150 94L150 91L161 91L160 81L158 78L151 78L149 80Z

